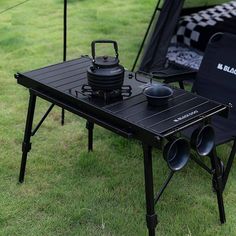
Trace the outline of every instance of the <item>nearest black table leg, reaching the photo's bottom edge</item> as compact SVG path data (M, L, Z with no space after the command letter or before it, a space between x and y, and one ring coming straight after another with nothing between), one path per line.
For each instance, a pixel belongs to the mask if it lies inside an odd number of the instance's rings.
M152 147L143 144L144 154L144 176L145 176L145 193L147 208L147 228L149 236L155 236L157 226L157 215L155 214L154 192L153 192L153 173L152 173Z

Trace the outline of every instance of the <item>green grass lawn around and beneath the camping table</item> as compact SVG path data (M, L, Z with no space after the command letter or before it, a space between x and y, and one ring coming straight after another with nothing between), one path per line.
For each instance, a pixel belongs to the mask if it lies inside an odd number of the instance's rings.
M1 0L0 11L16 3ZM112 38L130 68L155 3L69 0L68 58L90 54L94 39ZM17 182L28 91L13 75L62 60L62 13L62 0L32 0L0 15L0 235L146 235L140 143L96 126L87 153L85 121L66 113L61 127L59 108L32 139L26 181ZM36 120L48 106L38 101ZM219 149L223 159L228 151ZM157 150L154 169L158 189L168 169ZM221 226L210 178L190 161L156 207L158 235L236 235L235 177L234 163Z

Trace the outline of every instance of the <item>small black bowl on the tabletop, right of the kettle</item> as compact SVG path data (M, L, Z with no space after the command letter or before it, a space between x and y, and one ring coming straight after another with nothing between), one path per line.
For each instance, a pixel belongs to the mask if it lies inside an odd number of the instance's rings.
M151 106L163 106L173 96L173 90L164 85L151 85L143 90Z

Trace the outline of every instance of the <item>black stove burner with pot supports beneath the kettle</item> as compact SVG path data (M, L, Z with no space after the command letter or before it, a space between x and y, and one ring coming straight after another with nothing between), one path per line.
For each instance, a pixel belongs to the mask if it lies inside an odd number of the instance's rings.
M123 85L120 89L115 90L95 90L91 86L84 84L81 92L85 96L91 98L103 99L106 103L122 100L123 97L130 97L132 94L132 87L130 85Z

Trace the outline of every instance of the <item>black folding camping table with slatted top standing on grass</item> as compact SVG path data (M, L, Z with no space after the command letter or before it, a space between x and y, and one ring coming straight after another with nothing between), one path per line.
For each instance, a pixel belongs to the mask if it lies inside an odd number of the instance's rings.
M126 71L125 85L132 87L132 94L119 101L107 104L81 93L87 83L86 70L91 64L87 56L50 65L44 68L15 75L17 82L29 89L29 106L24 140L20 182L24 180L27 153L33 136L53 105L58 105L87 120L89 149L92 149L93 124L102 126L123 137L140 140L144 153L144 178L146 195L146 220L149 235L155 235L157 215L153 192L152 148L162 146L163 140L173 137L182 129L199 122L209 121L226 107L196 94L173 88L173 98L168 105L151 107L142 90L149 79ZM53 105L41 122L32 130L36 98L40 97Z

